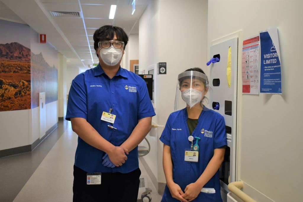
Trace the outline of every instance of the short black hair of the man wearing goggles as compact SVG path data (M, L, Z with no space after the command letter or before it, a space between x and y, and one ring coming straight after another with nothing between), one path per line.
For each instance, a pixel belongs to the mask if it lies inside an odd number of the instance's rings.
M121 27L116 27L113 25L104 25L97 29L94 33L94 49L97 51L99 41L110 41L117 36L118 41L124 42L124 50L125 46L128 42L128 36L125 31Z

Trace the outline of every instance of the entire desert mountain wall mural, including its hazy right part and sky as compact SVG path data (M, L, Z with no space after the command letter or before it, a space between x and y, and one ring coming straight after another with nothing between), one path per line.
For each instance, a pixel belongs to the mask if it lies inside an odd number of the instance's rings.
M39 92L45 104L58 100L57 50L39 44L28 25L0 20L0 27L0 111L38 107Z

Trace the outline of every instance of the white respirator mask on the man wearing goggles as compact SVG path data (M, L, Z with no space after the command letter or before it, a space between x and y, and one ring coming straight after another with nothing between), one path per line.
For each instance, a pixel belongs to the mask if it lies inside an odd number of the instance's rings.
M120 48L102 48L100 51L100 57L106 65L117 65L122 58L122 50Z

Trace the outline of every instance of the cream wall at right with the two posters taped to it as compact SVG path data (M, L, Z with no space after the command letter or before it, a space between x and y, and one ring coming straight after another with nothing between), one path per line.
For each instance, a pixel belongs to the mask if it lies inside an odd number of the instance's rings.
M278 28L283 94L242 95L238 62L237 124L237 179L255 189L251 197L264 194L276 202L301 201L301 8L302 1L208 1L208 56L215 39L242 30L242 43L266 28Z

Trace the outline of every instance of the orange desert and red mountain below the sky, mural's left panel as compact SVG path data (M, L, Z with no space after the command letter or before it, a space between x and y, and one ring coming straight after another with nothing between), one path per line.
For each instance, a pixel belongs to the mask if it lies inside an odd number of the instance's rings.
M31 51L17 43L0 44L0 111L31 108Z

